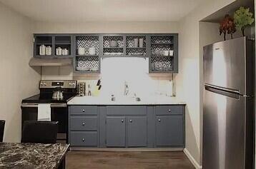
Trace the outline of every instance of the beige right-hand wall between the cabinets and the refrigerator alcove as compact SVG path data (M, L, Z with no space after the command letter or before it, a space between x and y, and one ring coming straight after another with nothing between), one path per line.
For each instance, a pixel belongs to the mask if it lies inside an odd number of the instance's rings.
M179 68L177 93L187 103L186 149L198 168L202 164L202 58L199 22L235 0L204 1L179 21ZM178 88L179 86L179 88Z

